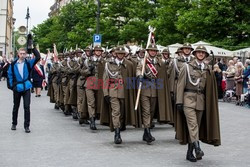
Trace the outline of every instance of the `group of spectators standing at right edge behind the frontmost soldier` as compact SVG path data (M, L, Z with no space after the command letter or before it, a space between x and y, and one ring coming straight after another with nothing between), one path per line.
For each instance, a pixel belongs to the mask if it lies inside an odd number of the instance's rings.
M236 105L250 107L250 59L245 63L238 57L229 60L228 63L217 59L214 71L218 85L218 98L224 101L236 100Z

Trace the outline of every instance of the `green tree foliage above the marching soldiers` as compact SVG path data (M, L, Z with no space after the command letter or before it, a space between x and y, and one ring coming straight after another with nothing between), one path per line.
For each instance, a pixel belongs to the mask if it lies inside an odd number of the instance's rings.
M152 25L161 45L203 40L238 49L250 45L248 6L247 0L101 0L100 34L104 46L145 46L147 27ZM96 12L95 0L72 1L32 30L35 41L42 51L53 43L60 51L90 45Z

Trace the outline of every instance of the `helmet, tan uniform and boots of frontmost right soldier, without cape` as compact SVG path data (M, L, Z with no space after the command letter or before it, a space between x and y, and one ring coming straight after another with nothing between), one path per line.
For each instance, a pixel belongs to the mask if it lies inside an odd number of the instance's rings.
M203 113L206 110L206 105L208 105L205 98L206 92L208 93L206 87L208 87L207 84L213 84L207 83L211 70L209 69L209 66L203 62L205 57L209 54L204 46L198 46L193 54L196 55L196 52L198 51L204 52L206 56L204 56L202 60L197 58L182 67L177 84L176 99L179 112L183 111L186 117L189 132L187 160L192 162L196 162L197 159L200 160L204 155L199 144L199 128ZM212 112L218 112L218 110ZM196 157L193 155L193 149L195 149Z

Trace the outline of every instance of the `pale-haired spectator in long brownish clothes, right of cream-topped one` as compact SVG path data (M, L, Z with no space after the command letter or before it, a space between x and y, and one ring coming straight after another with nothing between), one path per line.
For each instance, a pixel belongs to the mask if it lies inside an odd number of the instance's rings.
M236 83L236 96L237 96L237 102L236 105L240 104L240 97L243 93L243 74L244 66L242 62L236 63L236 72L235 72L235 83Z

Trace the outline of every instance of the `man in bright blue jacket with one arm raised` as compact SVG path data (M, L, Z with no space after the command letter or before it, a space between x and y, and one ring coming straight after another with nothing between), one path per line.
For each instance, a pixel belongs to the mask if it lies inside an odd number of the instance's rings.
M11 63L8 69L8 88L13 91L14 101L11 130L16 130L18 109L21 97L23 97L24 129L26 133L30 133L30 89L32 88L30 72L34 68L34 65L40 60L40 53L36 48L33 48L33 46L32 51L35 58L26 60L26 51L24 48L20 48L18 50L18 58Z

